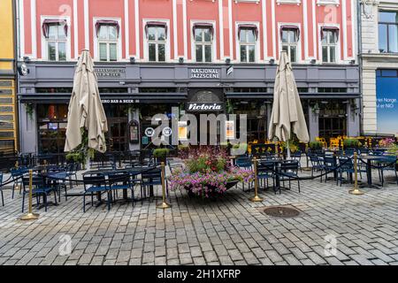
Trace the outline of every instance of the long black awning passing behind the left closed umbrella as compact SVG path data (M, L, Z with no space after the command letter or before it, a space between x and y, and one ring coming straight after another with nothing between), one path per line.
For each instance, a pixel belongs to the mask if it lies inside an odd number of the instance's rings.
M21 103L69 103L70 93L19 94ZM106 93L100 94L103 103L180 103L187 93Z

